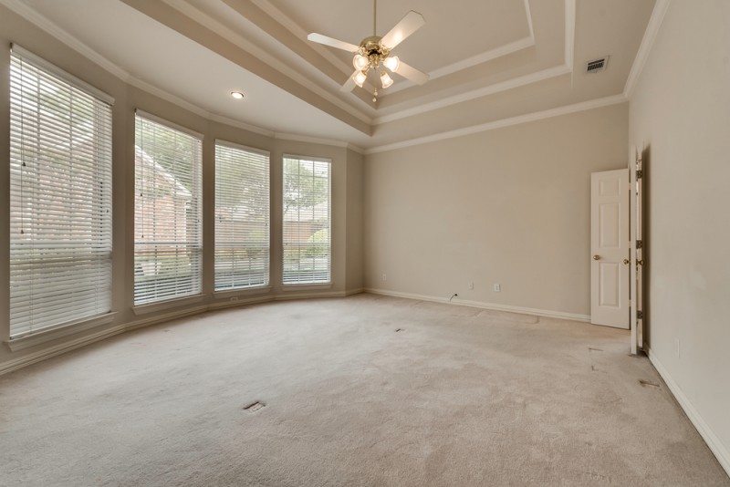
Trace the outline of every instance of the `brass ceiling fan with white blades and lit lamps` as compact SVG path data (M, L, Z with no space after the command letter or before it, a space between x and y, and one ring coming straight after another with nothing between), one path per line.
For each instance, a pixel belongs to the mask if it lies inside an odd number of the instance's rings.
M379 73L382 88L388 88L393 84L393 79L388 71L398 73L403 78L410 79L419 85L428 81L427 74L405 64L397 56L391 56L392 49L426 23L423 16L418 12L411 11L401 19L401 22L391 28L388 34L381 37L377 35L375 24L378 14L378 0L373 0L372 10L372 36L362 39L360 46L316 33L307 36L310 41L329 47L337 47L354 54L352 65L355 67L355 72L342 85L342 91L351 91L356 85L362 88L370 71ZM372 95L372 100L375 101L378 97L378 88L374 89Z

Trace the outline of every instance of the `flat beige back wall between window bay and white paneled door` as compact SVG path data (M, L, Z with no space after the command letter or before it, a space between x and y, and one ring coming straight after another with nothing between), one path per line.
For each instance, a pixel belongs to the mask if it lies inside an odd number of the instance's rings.
M366 287L589 315L590 173L626 167L627 123L624 103L370 155Z

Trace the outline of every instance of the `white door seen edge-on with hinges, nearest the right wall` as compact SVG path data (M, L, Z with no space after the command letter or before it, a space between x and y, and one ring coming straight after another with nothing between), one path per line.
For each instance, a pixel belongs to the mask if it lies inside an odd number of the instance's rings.
M643 349L643 288L641 286L643 270L643 241L641 240L641 150L631 147L629 159L631 175L631 353Z

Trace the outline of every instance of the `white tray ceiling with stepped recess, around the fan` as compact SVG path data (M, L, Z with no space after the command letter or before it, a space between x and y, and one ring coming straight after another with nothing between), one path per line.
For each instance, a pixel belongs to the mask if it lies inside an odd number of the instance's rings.
M279 137L378 150L543 110L618 99L654 0L381 0L378 35L409 10L425 26L393 51L431 79L339 87L370 0L0 0L131 84ZM610 56L608 68L586 63ZM368 88L368 85L366 85ZM228 93L245 91L243 101ZM612 97L612 98L611 98Z

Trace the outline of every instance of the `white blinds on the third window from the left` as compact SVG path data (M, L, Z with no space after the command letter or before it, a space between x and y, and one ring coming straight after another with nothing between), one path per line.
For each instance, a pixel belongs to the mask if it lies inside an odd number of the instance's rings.
M268 284L269 155L215 144L215 290Z

